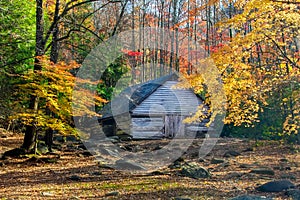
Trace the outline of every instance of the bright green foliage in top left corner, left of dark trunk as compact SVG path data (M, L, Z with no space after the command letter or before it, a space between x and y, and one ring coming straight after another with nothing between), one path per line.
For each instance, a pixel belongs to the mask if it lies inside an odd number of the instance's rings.
M3 0L0 8L0 67L9 66L10 70L22 71L33 62L34 1Z

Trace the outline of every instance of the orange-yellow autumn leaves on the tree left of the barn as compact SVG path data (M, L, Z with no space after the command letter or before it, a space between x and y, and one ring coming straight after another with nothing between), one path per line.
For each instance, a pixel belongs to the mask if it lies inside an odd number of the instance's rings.
M39 71L28 71L23 75L22 83L18 85L18 96L16 110L12 118L22 120L24 124L34 123L40 128L52 128L63 134L73 133L71 127L73 109L78 109L76 113L97 116L98 114L90 111L91 106L101 105L106 102L99 97L92 89L97 82L90 80L80 80L72 74L79 67L75 62L57 64L51 63L47 57L39 57L42 69ZM89 97L85 104L77 103L72 108L73 90L75 80L79 84L84 84L86 89L80 90L81 96ZM77 93L78 94L78 93ZM29 95L39 97L38 111L28 109L26 104L20 106L22 101L30 101ZM75 97L76 98L76 97ZM87 103L88 102L88 103ZM28 104L28 103L27 103ZM49 111L52 114L49 114Z

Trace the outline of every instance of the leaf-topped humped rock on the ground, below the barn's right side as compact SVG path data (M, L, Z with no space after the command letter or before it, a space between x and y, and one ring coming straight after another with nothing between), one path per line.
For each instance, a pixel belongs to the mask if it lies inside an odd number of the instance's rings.
M182 166L181 174L190 178L209 178L211 174L203 167L197 165L197 163L186 163Z

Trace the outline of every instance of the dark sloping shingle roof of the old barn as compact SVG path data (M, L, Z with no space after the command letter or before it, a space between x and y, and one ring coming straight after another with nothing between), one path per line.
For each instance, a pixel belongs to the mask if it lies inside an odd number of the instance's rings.
M172 80L178 80L178 75L176 73L126 88L118 96L113 98L110 103L103 107L100 112L102 114L100 120L111 118L114 115L131 112L166 81ZM112 113L112 107L114 113Z

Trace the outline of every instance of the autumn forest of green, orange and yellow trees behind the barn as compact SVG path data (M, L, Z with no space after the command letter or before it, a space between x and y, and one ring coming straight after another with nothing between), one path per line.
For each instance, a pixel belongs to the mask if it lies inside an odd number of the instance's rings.
M76 134L73 118L81 116L73 116L72 91L85 57L118 33L153 27L184 34L188 57L178 56L176 34L171 53L141 48L146 38L139 37L135 50L124 49L101 80L82 80L97 92L81 91L91 101L76 105L76 113L95 115L89 107L96 102L100 110L121 77L137 84L172 70L210 104L211 91L191 64L189 45L196 43L224 84L222 135L299 143L299 8L298 0L2 0L0 126L23 132L26 151L38 135L51 143L54 131Z

